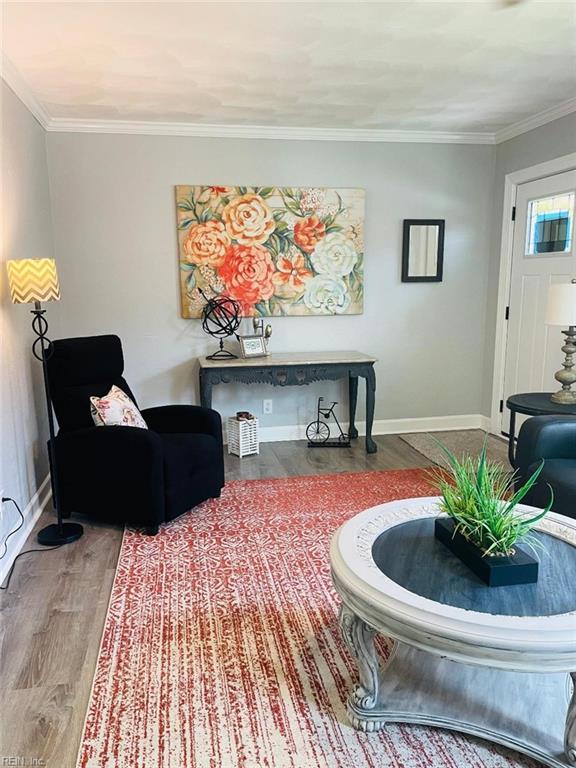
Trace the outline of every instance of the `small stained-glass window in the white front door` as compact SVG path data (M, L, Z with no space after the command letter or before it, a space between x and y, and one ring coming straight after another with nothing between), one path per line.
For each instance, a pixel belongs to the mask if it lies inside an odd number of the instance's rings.
M568 253L574 229L574 193L532 200L528 206L526 256Z

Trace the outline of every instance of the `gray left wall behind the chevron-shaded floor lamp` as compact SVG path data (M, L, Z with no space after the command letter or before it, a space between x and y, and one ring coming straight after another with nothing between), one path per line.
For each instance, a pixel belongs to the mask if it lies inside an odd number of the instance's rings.
M52 222L43 128L2 81L2 262L52 257ZM41 367L32 357L30 307L12 304L0 265L0 489L24 509L46 477L46 406ZM46 305L58 332L57 305ZM30 509L30 514L34 509ZM18 521L5 505L0 541ZM9 541L18 548L18 536ZM8 562L10 555L3 560Z

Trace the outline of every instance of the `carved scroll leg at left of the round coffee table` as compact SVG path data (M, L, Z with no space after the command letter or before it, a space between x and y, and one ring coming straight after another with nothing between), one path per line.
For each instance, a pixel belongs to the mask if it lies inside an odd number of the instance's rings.
M348 702L348 714L352 725L362 731L378 731L385 721L373 716L378 702L380 669L374 636L376 630L358 618L346 605L340 606L338 616L344 642L358 664L359 684Z

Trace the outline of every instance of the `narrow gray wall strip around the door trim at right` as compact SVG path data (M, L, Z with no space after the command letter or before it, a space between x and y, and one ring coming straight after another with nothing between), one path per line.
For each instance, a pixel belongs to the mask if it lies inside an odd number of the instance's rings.
M502 206L504 180L508 173L529 168L547 160L576 152L576 113L562 117L533 131L524 133L496 147L496 175L494 184L492 258L488 277L488 307L485 332L485 367L482 413L489 414L494 376L494 344L496 339L496 309L498 303L498 277L500 271L500 238L502 234Z

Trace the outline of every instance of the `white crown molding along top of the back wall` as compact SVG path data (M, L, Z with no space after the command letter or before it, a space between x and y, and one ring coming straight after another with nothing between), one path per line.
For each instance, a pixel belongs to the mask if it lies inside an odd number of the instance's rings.
M218 125L138 120L52 118L46 130L58 133L116 133L145 136L196 136L214 139L286 139L289 141L367 141L416 144L494 144L491 133L396 131L378 128L297 128L266 125Z

